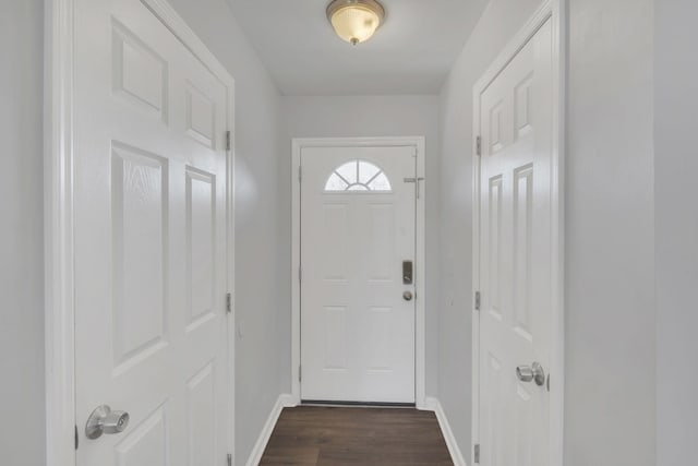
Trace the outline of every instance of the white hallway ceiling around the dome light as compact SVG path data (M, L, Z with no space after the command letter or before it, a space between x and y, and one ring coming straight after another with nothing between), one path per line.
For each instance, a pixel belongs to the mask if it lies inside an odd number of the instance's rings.
M488 0L382 0L369 41L339 39L329 0L228 0L284 95L436 94Z

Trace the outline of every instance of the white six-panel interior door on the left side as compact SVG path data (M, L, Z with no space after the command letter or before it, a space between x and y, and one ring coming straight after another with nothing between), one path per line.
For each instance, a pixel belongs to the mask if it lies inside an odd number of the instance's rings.
M77 465L222 466L228 89L139 0L76 0L74 46Z

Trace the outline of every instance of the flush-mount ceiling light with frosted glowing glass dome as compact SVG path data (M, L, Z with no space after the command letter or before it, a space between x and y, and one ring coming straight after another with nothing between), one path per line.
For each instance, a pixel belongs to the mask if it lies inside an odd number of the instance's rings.
M375 0L333 0L327 19L339 37L357 45L369 40L383 24L385 10Z

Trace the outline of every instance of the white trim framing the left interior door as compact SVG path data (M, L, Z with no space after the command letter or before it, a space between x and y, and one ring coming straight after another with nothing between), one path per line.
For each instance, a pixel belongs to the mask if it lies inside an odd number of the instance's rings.
M234 128L234 80L166 0L141 0L227 88ZM75 345L73 268L73 45L74 0L45 7L44 246L46 351L46 464L75 465ZM234 144L231 144L234 147ZM227 286L234 287L234 151L228 151ZM233 295L234 296L234 295ZM228 449L234 447L234 319L228 319Z

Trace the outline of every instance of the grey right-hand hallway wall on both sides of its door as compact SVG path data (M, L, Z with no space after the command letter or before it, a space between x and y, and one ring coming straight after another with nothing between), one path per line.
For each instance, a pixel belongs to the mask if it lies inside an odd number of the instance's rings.
M471 93L538 0L491 0L442 92L440 398L470 451ZM652 0L569 0L567 466L653 465Z

